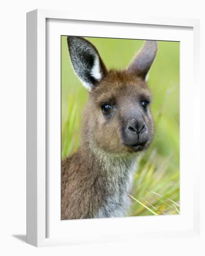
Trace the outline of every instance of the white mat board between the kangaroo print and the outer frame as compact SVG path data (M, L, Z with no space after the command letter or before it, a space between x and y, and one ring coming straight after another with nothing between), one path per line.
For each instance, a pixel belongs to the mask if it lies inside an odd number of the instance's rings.
M111 240L116 234L128 234L166 230L192 229L193 227L193 188L192 170L194 169L194 127L190 125L190 116L194 116L190 98L193 94L193 31L190 27L167 27L133 24L109 24L103 22L83 22L76 20L48 19L46 23L46 48L47 48L47 237L70 236L70 239L84 241L85 237L92 239L92 234L100 230L101 240ZM61 108L61 35L86 35L96 37L119 38L143 38L147 40L175 40L180 41L180 215L151 218L115 218L101 220L70 220L60 221L60 167L61 167L61 143L60 143L60 108ZM136 37L137 36L137 37ZM159 49L160 50L160 49ZM120 54L120 53L119 53ZM189 61L187 56L189 55ZM105 60L106 63L106 60ZM166 82L166 81L165 81ZM189 113L189 115L186 115ZM190 138L189 138L190 137ZM187 140L186 138L189 138ZM190 161L186 161L186 159ZM136 230L137 227L137 230ZM69 230L69 234L68 234ZM90 230L89 232L87 230ZM108 232L109 230L109 232Z

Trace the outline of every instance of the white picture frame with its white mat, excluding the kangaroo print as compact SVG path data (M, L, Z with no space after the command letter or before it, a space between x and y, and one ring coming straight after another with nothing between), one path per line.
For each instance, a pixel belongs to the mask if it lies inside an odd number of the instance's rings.
M116 17L116 16L115 16ZM184 31L184 47L182 49L182 55L180 57L185 58L186 53L190 50L192 54L187 63L188 75L185 76L185 70L180 69L180 84L187 85L186 98L194 95L194 108L190 109L193 111L194 115L194 126L190 129L184 129L186 123L186 118L181 115L180 122L180 137L181 143L186 141L186 135L194 129L196 132L192 137L190 144L195 145L194 151L191 152L182 152L181 157L183 159L190 159L190 162L187 165L182 165L182 174L183 169L187 170L186 179L181 175L180 189L182 193L181 198L181 214L179 216L160 216L160 217L129 217L129 218L111 218L111 219L98 219L98 220L77 220L62 222L58 218L58 213L60 208L59 206L59 194L52 195L53 203L51 205L49 196L50 190L49 187L53 186L53 193L58 191L54 182L58 182L60 186L58 177L56 179L55 175L50 175L48 178L48 166L51 166L47 162L47 156L49 146L48 141L50 141L50 134L52 131L48 132L51 122L53 127L56 128L54 133L59 130L59 126L56 127L55 123L59 123L59 109L56 111L56 119L50 119L49 108L52 107L53 97L57 97L59 90L48 90L47 83L51 81L47 77L46 72L48 69L48 55L50 54L50 48L54 47L56 36L64 33L66 30L67 22L71 23L71 28L77 29L75 27L75 22L78 23L79 29L84 29L86 26L88 28L86 35L94 36L97 33L99 26L106 26L109 30L112 26L126 26L126 27L135 27L137 25L144 26L144 28L149 27L150 31L155 29L155 33L151 34L150 39L162 40L160 38L160 31L165 30L163 34L163 40L177 40L181 34L181 31ZM62 24L61 24L62 23ZM64 25L63 25L64 23ZM83 27L83 24L85 27ZM92 24L89 30L89 24ZM101 25L100 25L101 24ZM59 26L60 25L60 26ZM150 27L151 26L151 27ZM80 28L81 27L81 28ZM61 31L62 28L62 31ZM173 32L171 38L171 28L174 28L176 31ZM102 28L104 31L105 28ZM159 30L159 34L157 32ZM168 33L166 33L168 30ZM76 30L75 30L76 31ZM79 30L80 31L80 30ZM89 32L90 31L90 32ZM140 30L138 30L140 31ZM141 32L139 38L146 38L146 32ZM178 32L177 32L178 31ZM187 33L186 33L187 31ZM50 34L49 34L50 33ZM72 35L74 32L70 32ZM89 34L90 33L90 34ZM108 33L108 32L106 32ZM113 32L114 33L114 32ZM113 37L117 37L116 34L113 34ZM129 33L129 32L128 32ZM132 31L130 31L132 33ZM175 34L176 33L176 34ZM100 35L100 34L99 34ZM102 34L101 34L102 35ZM167 37L166 37L167 36ZM187 36L187 37L186 37ZM50 38L51 37L51 38ZM109 36L108 36L109 37ZM129 35L122 34L122 38L130 38ZM153 38L155 37L155 38ZM50 38L53 42L53 45L47 47L46 40ZM193 41L192 41L193 39ZM182 41L183 42L183 41ZM58 42L57 42L58 44ZM191 47L191 48L188 48ZM183 49L184 52L183 52ZM58 54L59 55L59 54ZM49 67L51 68L50 73L55 76L53 77L53 82L59 81L60 69L58 68L60 62L58 59L59 56L55 56L55 61L57 66ZM47 58L47 59L46 59ZM53 72L55 70L55 72ZM187 71L186 70L186 71ZM70 245L70 244L81 244L81 243L105 243L105 242L116 242L116 241L131 241L132 239L154 239L160 237L168 237L170 239L176 237L199 237L200 235L200 202L199 202L199 172L200 172L200 115L199 115L199 96L200 95L200 84L199 84L199 20L188 20L188 19L168 19L168 18L144 18L130 17L130 20L123 20L123 18L115 19L97 19L96 17L72 17L70 13L63 11L54 11L54 10L34 10L27 13L27 243L34 246L53 246L53 245ZM194 80L194 87L193 87ZM192 92L189 88L193 87ZM51 88L55 88L51 86ZM49 93L48 93L49 91ZM183 97L181 91L180 95L180 108L181 112L185 112L187 107L188 100ZM192 93L192 94L191 94ZM49 98L49 102L46 99ZM59 102L57 103L59 106ZM55 115L54 115L55 116ZM50 143L50 142L49 142ZM57 145L55 148L58 150L59 143L58 141L54 142ZM181 145L180 145L181 146ZM186 150L185 150L186 151ZM57 151L60 154L60 149ZM51 151L51 154L55 154L55 151ZM49 153L49 154L50 154ZM191 159L191 156L194 157ZM53 158L54 159L54 158ZM56 157L56 161L53 166L59 163L59 155ZM193 175L193 164L197 168L194 169ZM54 184L54 185L53 185ZM187 191L187 188L188 189ZM183 199L183 190L186 189L186 193L190 193L192 198L191 211L186 213L186 199ZM57 195L58 194L58 195ZM55 204L56 202L56 204ZM183 203L185 206L183 206ZM184 208L183 208L184 207ZM57 210L55 210L57 209ZM184 209L184 210L183 210ZM52 214L51 214L52 212ZM120 222L119 222L120 221ZM119 224L121 228L119 229ZM137 229L131 229L133 224L137 225ZM48 228L49 226L49 228ZM106 229L106 226L112 227L111 231ZM104 228L105 227L105 228ZM67 231L69 230L69 231ZM81 232L79 232L79 230ZM85 230L85 231L83 231ZM97 232L97 230L101 230ZM115 231L113 231L115 230ZM66 234L65 234L66 233Z

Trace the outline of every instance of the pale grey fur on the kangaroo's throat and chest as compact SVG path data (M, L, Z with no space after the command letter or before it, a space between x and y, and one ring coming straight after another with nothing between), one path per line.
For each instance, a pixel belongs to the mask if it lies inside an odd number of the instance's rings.
M107 154L99 148L90 145L96 161L102 166L101 172L107 176L105 190L108 192L96 218L122 217L127 215L130 207L130 197L134 175L137 170L137 159L140 155Z

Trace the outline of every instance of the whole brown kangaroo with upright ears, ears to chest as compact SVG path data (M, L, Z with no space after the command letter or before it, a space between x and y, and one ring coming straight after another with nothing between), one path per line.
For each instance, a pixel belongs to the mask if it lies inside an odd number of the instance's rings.
M154 137L146 76L157 53L148 40L124 70L107 70L96 47L68 36L70 60L89 90L81 145L62 161L61 219L126 216L137 160Z

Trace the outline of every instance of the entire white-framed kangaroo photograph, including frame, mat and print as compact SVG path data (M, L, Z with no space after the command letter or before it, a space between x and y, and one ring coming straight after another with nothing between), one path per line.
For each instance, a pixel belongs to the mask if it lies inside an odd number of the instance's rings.
M27 13L27 243L199 236L198 38L199 20Z

